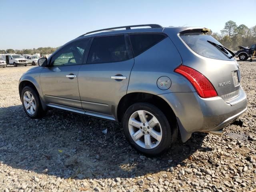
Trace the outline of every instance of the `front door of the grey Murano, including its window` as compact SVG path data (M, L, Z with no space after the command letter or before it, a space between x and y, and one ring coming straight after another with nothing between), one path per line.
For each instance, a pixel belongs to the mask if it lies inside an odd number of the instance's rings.
M44 67L40 83L44 99L50 105L81 109L78 70L83 64L88 39L72 42L61 48Z

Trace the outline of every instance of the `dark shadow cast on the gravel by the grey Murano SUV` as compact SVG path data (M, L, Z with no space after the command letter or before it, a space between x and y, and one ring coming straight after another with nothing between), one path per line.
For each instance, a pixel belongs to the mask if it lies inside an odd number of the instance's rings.
M194 133L162 156L145 158L128 144L118 123L56 109L36 120L21 105L0 108L0 162L37 173L47 168L46 174L62 178L130 178L186 166L191 158L200 162L194 152L211 150L202 147L205 136Z

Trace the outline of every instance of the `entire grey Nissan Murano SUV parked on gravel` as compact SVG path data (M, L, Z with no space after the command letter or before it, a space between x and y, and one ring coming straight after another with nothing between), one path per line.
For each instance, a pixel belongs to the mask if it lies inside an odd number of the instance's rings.
M178 133L182 142L192 132L222 134L247 98L234 53L208 31L148 24L83 34L22 75L24 110L30 118L52 107L122 122L147 155L167 150Z

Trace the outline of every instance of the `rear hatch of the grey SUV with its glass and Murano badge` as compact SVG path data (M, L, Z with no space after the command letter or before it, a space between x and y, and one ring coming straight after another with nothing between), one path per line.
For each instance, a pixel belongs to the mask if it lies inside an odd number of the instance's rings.
M202 31L185 31L181 32L179 36L196 56L194 62L185 60L184 65L203 74L224 101L238 96L240 70L238 62L234 59L234 53Z

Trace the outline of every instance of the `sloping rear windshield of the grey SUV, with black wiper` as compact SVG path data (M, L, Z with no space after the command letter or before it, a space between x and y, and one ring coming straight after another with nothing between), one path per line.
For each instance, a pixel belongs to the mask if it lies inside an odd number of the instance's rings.
M214 46L210 43L213 42L222 46L220 42L210 35L204 33L186 33L180 34L180 37L194 52L201 56L219 60L234 60L230 52L225 52L218 46Z

